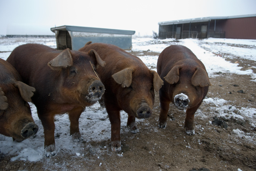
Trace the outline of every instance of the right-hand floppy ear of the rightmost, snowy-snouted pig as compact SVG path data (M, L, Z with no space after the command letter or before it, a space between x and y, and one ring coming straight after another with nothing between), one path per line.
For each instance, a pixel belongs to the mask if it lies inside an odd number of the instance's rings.
M192 85L205 87L211 85L207 72L203 68L196 68L195 73L191 78Z

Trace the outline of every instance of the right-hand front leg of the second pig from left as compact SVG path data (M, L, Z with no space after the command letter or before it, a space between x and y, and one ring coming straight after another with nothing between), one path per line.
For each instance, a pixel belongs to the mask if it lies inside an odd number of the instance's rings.
M84 108L75 108L68 112L70 119L70 135L74 141L80 142L83 140L79 131L79 117L84 111Z

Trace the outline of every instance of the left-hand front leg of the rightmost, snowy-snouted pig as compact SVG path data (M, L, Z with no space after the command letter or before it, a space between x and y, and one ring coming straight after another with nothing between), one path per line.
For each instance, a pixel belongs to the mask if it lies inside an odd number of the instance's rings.
M169 111L170 103L171 103L170 100L160 96L161 110L160 110L160 115L159 115L159 120L158 120L158 127L159 128L166 128L167 114L168 114L168 111Z

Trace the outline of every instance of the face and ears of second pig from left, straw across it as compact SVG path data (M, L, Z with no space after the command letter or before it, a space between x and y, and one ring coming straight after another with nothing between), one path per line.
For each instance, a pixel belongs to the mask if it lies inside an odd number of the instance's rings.
M86 55L87 58L82 57ZM53 70L61 71L60 94L63 100L80 103L84 106L96 103L104 94L105 87L99 80L95 69L105 66L96 51L89 56L85 52L73 53L66 49L48 63ZM58 97L57 97L58 98Z

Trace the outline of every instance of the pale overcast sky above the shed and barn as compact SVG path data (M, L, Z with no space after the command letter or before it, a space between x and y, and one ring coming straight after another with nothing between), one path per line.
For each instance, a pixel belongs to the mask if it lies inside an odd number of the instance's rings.
M158 33L158 22L256 14L256 0L0 0L0 35L71 25Z

